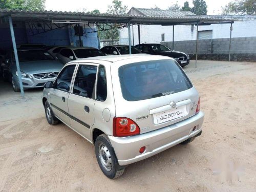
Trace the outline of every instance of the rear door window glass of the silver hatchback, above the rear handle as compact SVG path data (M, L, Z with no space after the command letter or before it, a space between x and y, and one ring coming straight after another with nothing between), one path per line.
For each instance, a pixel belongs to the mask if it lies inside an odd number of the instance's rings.
M97 66L80 65L75 78L73 94L93 98L96 73Z

